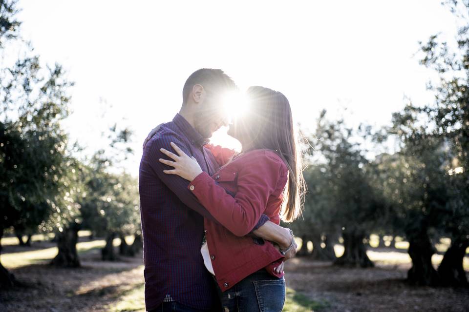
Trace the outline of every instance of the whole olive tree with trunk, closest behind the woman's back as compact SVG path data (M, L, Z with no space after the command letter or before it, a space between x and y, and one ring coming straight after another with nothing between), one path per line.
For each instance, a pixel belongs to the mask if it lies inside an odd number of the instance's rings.
M342 231L344 254L335 260L335 264L370 267L373 263L366 254L364 241L375 227L382 203L369 184L365 170L368 160L362 155L360 144L354 142L354 136L359 133L347 128L343 120L329 121L325 115L323 111L318 120L315 133L318 139L310 140L318 166L312 169L310 176L316 176L313 182L316 185L309 187L313 187L320 198L318 204L315 200L311 203L316 206L314 216L318 222L330 222L326 230L329 234L336 228ZM320 183L318 179L321 179Z

